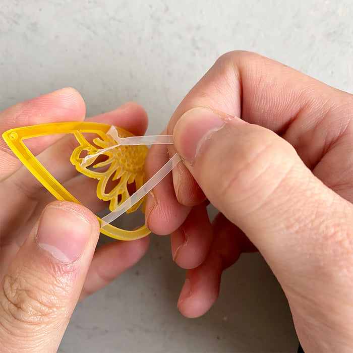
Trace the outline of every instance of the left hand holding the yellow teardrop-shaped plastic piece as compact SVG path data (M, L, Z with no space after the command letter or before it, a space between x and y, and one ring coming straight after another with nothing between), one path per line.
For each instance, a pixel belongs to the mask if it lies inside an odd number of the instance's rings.
M19 103L0 113L0 130L35 124L83 121L85 104L77 91L65 88ZM133 119L132 119L133 118ZM88 119L143 135L144 109L136 103ZM77 190L91 211L106 208L90 180L76 177L68 147L72 136L28 142L60 182ZM84 177L82 177L84 178ZM95 251L99 223L87 208L55 201L0 141L0 350L53 352L64 335L79 298L93 293L146 252L148 237L115 241ZM97 201L98 200L98 201ZM48 204L48 205L47 205Z

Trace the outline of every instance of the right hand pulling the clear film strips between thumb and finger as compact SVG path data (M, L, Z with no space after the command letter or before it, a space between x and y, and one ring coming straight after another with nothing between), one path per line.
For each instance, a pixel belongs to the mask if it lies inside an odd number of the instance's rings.
M222 271L257 248L304 350L351 350L352 118L352 95L254 53L223 55L190 91L167 128L169 155L184 163L146 208L149 229L171 232L173 258L188 269L184 315L206 312ZM166 158L151 148L147 174ZM213 224L206 197L221 212Z

